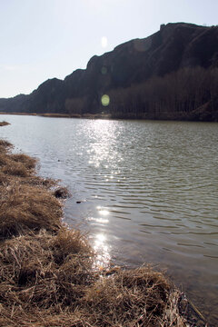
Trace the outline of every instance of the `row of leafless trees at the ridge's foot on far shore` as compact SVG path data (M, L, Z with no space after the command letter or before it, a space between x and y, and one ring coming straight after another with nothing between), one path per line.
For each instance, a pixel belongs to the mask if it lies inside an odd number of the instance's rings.
M218 68L183 68L111 90L109 96L114 118L197 119L205 111L218 118Z

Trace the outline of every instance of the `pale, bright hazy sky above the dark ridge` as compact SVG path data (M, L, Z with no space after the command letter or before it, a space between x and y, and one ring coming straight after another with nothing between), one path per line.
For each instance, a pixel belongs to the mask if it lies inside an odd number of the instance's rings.
M161 24L217 25L218 0L0 0L0 98L64 79Z

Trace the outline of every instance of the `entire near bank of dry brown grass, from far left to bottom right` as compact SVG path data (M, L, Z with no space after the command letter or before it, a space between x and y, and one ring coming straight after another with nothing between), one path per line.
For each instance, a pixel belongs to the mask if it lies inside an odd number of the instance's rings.
M205 325L162 272L96 267L83 233L63 222L67 191L12 148L0 140L0 326Z

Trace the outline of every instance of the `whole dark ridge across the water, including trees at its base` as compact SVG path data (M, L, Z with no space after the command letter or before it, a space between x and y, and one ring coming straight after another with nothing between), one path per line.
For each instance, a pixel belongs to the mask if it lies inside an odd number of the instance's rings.
M218 26L161 25L154 35L94 55L64 81L0 99L0 112L218 121Z

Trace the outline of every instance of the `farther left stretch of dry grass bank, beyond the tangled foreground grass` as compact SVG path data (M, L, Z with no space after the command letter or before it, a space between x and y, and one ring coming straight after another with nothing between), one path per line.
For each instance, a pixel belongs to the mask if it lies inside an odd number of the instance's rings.
M0 144L5 149L9 146L7 142ZM35 176L35 163L25 154L0 154L2 239L41 228L55 232L61 225L62 204L47 190L52 182Z

